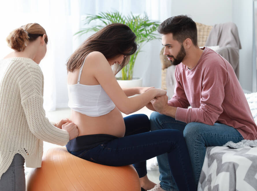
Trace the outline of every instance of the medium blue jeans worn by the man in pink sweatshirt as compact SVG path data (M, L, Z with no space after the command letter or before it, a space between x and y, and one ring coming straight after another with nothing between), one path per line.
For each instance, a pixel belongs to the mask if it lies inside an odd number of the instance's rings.
M222 146L228 141L240 142L242 135L233 127L221 123L206 125L203 123L184 123L170 116L153 112L150 115L151 131L160 129L177 129L183 132L191 164L195 184L198 184L207 146ZM161 137L160 137L161 139ZM172 173L167 165L167 153L157 156L160 171L161 188L167 191L178 190Z

